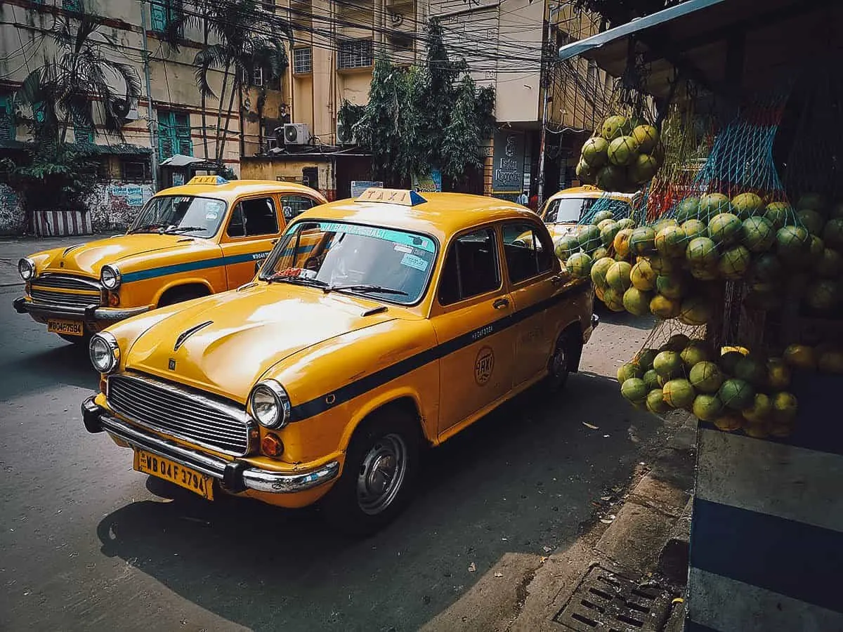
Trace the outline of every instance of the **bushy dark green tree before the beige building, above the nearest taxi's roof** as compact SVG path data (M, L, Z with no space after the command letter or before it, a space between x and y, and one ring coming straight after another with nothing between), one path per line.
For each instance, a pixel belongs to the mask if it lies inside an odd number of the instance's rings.
M477 153L494 129L493 88L478 89L464 60L452 61L437 19L427 24L427 59L405 69L375 62L368 104L344 103L341 120L372 153L372 170L390 185L441 169L450 187L482 166Z

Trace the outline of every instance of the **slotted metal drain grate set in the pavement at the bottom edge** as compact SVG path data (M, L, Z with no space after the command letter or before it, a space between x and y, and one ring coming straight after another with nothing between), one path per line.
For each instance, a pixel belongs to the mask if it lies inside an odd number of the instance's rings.
M657 632L668 619L671 595L594 566L553 618L577 632Z

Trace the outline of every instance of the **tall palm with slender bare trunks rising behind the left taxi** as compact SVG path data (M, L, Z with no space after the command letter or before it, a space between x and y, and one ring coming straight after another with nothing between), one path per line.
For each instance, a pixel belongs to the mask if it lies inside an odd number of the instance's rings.
M207 97L217 98L209 81L210 73L223 71L216 127L216 159L222 164L234 97L244 88L244 76L250 77L255 68L260 67L269 70L271 78L281 77L289 63L284 40L293 45L293 29L287 22L260 11L255 0L211 3L207 11L207 27L217 41L213 44L206 42L193 62L196 65L196 86L203 104ZM224 108L226 90L228 108ZM223 111L227 113L224 123Z

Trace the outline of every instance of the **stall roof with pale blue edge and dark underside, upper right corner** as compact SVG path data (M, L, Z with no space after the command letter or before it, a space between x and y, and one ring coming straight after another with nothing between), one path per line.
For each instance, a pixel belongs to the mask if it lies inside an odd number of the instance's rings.
M775 88L801 67L843 52L839 0L686 0L647 17L572 42L560 59L593 59L620 77L634 51L642 89L664 97L679 73L717 94Z

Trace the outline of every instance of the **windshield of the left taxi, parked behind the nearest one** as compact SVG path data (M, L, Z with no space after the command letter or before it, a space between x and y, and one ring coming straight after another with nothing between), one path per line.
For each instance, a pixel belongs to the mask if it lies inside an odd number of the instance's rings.
M212 237L225 217L226 203L196 195L157 195L138 214L129 233L172 233Z

